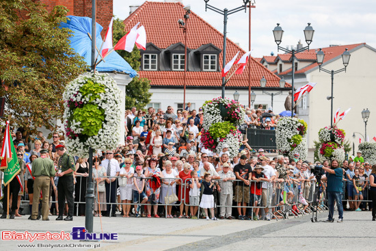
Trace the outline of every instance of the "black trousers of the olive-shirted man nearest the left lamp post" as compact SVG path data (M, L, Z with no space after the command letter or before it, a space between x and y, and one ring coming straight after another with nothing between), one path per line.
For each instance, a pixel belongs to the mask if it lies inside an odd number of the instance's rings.
M59 177L57 183L57 202L59 204L59 216L64 215L65 200L68 203L68 216L73 216L73 175Z

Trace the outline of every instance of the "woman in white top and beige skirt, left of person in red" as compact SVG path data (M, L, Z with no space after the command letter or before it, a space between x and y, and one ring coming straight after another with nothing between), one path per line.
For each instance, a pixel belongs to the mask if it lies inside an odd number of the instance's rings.
M159 202L165 204L165 196L170 196L172 194L176 194L176 179L179 178L178 172L172 169L171 161L165 161L165 170L162 172L164 179L161 181L161 195L159 196ZM167 178L167 179L166 179ZM172 203L172 204L175 204ZM172 218L171 215L172 206L167 206L167 218Z

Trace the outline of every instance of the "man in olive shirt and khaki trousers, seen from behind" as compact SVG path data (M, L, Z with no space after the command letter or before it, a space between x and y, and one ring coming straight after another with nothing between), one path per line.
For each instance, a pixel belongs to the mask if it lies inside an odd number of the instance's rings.
M55 176L55 166L53 161L48 158L49 150L40 150L40 158L34 159L31 175L36 177L34 180L33 208L31 209L31 220L37 220L39 207L39 194L42 190L42 220L49 220L49 198L50 183Z

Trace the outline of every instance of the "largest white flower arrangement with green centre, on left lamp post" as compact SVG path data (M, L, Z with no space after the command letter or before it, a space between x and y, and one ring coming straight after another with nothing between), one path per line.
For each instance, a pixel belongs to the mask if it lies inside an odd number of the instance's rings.
M92 90L90 89L83 94L83 88L99 88L100 91L90 92ZM63 98L66 148L72 155L88 157L90 147L96 150L118 146L121 90L112 77L98 72L81 75L66 86ZM85 114L89 116L88 118L77 115L78 109L82 111L85 107L88 108ZM98 112L100 115L92 118L90 111L93 111L93 114ZM96 124L98 131L92 131L93 127L90 126L85 127L85 124L92 120L98 122Z

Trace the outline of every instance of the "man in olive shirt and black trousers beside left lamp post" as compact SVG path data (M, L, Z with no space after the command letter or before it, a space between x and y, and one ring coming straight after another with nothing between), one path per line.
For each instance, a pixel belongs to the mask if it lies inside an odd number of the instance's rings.
M63 220L65 200L68 203L68 216L64 220L73 220L73 172L76 170L75 159L68 155L62 144L56 147L56 153L60 156L57 166L57 200L59 202L59 217L56 220Z

